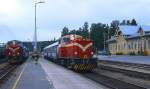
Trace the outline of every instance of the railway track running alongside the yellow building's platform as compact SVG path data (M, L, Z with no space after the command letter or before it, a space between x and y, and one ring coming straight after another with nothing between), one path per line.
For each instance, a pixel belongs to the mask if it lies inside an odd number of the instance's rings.
M122 73L135 78L150 80L150 65L134 64L114 61L99 61L99 70L109 70Z

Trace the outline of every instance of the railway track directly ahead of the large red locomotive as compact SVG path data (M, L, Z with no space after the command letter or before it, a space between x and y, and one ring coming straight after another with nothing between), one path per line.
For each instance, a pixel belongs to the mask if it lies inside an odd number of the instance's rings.
M132 83L127 83L127 82L124 82L115 78L111 78L105 75L101 75L96 72L85 73L82 75L110 89L146 89L144 87L137 86Z

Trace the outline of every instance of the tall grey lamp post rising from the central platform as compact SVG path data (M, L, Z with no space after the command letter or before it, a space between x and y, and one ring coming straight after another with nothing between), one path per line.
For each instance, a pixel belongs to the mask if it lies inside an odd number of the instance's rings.
M45 3L45 2L36 2L35 3L35 29L34 29L34 51L37 51L37 26L36 26L36 7L40 3Z

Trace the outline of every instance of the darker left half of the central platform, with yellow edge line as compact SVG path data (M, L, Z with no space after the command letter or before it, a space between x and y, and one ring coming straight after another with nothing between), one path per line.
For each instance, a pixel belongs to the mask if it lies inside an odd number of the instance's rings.
M40 64L27 61L12 89L53 89Z

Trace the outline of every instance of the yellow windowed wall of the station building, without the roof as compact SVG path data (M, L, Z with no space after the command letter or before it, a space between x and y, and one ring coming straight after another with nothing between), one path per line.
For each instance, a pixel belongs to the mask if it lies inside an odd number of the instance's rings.
M138 55L140 52L150 55L150 36L132 39L125 39L120 36L115 41L109 42L108 45L112 55L128 55L131 53Z

